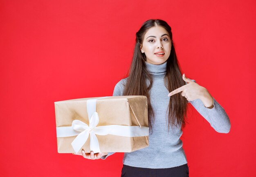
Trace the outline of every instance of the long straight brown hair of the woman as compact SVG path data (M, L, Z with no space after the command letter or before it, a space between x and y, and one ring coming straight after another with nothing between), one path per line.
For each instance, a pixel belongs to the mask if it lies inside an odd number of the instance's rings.
M136 33L136 44L132 57L132 64L130 66L129 77L127 77L126 84L124 86L123 95L144 95L147 97L148 101L148 124L152 130L152 123L155 119L155 114L153 108L150 104L149 91L152 87L153 79L146 70L146 55L141 53L140 46L144 40L144 35L151 27L161 26L168 31L171 38L171 53L166 63L166 74L164 76L164 85L169 92L183 86L186 84L182 79L182 74L180 70L180 64L177 60L175 53L175 48L173 44L173 35L171 32L171 27L164 21L159 19L151 19L144 22ZM146 80L149 81L149 86L147 86ZM182 128L185 126L185 117L187 110L187 103L185 97L180 93L177 93L170 97L168 105L168 131L170 124L171 126L179 125Z

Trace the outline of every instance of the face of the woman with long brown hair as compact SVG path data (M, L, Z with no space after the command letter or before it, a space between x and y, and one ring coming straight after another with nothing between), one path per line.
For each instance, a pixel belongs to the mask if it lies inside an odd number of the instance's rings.
M146 55L146 62L150 64L166 62L171 53L171 39L166 29L160 26L148 29L140 49Z

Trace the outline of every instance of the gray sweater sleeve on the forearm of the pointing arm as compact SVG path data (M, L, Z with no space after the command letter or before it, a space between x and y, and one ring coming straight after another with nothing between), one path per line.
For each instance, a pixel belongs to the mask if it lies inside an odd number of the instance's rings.
M192 80L195 82L195 80ZM218 133L229 133L230 120L224 108L213 97L213 108L206 108L200 99L189 101Z

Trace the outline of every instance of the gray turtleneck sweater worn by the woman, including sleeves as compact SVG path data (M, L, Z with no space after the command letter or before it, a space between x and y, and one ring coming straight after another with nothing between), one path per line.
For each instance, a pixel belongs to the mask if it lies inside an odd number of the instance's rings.
M171 168L187 163L186 155L182 148L181 127L170 126L168 132L168 90L164 86L166 63L155 65L146 62L146 69L153 77L153 86L150 90L150 101L155 112L153 134L149 133L149 146L124 153L123 164L141 168ZM113 96L123 95L126 79L120 80L114 89ZM195 80L193 80L195 82ZM213 98L213 108L206 108L200 99L189 101L193 107L210 123L219 133L229 133L230 121L225 110ZM167 111L167 113L166 113ZM151 132L151 131L150 131ZM106 159L114 153L101 157Z

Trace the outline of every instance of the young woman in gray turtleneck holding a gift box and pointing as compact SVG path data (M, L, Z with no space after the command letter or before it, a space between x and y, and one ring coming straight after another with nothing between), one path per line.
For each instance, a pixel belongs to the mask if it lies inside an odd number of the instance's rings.
M148 98L149 146L124 153L121 176L188 177L182 148L188 102L219 133L229 133L225 110L206 88L181 74L171 27L163 20L147 20L136 33L129 76L120 80L113 96ZM114 153L84 153L87 159L106 159Z

